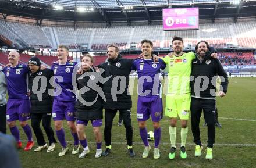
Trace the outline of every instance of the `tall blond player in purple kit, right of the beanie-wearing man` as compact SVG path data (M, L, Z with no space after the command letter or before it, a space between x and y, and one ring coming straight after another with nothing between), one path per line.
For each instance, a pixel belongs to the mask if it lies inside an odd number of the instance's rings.
M56 135L62 145L62 150L59 152L59 156L64 156L69 148L67 147L65 140L65 131L63 130L63 120L67 120L71 133L74 138L74 148L72 154L79 152L79 139L76 131L75 115L76 109L74 105L76 103L76 96L73 92L72 85L72 72L76 62L67 60L69 55L69 48L65 45L59 45L58 49L58 61L52 64L51 69L54 71L54 103L52 105L52 118L54 119L54 126Z

